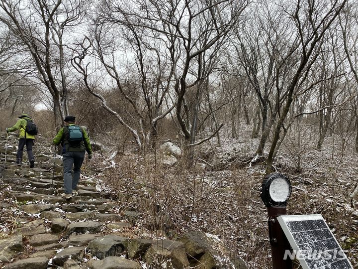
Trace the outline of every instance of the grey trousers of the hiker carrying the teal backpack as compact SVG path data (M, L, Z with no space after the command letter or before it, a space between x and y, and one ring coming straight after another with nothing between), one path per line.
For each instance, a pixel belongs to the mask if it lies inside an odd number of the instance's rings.
M69 151L62 154L65 193L72 193L72 190L76 190L84 159L85 152Z

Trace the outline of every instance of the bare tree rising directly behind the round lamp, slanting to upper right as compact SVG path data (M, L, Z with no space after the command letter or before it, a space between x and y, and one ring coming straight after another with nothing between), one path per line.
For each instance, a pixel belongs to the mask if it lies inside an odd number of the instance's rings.
M307 74L319 55L320 42L325 38L327 29L331 26L333 21L336 20L345 4L346 0L334 1L332 3L302 3L298 0L295 9L288 11L296 26L296 36L299 37L298 49L302 53L302 57L296 65L296 68L292 70L292 77L289 79L287 86L282 89L284 90L283 96L285 103L282 106L274 129L267 158L266 173L271 171L280 131L284 127L284 121L292 101L297 96L297 89L299 89L298 87L306 80Z

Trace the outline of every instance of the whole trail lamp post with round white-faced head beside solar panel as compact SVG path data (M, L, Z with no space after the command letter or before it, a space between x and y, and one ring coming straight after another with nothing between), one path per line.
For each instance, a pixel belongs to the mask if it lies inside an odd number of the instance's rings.
M268 208L269 241L273 269L292 269L291 259L283 259L290 245L284 235L277 217L286 215L287 201L291 195L289 179L280 173L269 174L261 185L261 199Z

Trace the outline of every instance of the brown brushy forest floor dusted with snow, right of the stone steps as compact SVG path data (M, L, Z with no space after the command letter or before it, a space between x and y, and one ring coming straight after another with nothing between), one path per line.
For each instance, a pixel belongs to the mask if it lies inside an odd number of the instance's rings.
M243 138L222 135L221 146L215 140L200 145L190 168L180 160L171 167L161 165L159 153L146 159L126 153L116 159L116 168L104 171L105 185L117 192L140 182L148 188L150 206L128 202L146 208L143 229L164 231L170 238L185 231L209 232L224 242L225 255L240 256L250 269L270 268L267 209L260 198L265 161L249 168L258 145L258 139L245 138L250 128L244 126ZM358 199L351 197L358 155L352 136L330 135L322 150L315 150L313 130L292 132L273 166L292 184L287 214L322 214L358 268Z

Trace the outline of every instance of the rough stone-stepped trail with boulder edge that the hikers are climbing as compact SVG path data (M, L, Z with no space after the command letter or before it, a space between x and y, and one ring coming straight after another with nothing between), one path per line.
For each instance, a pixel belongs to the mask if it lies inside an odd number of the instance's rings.
M134 228L143 213L98 191L94 170L83 166L78 193L66 200L60 196L62 160L54 159L51 145L44 147L47 152L35 152L35 167L30 168L15 164L17 137L9 135L5 144L6 136L1 136L1 268L228 268L227 261L221 265L225 259L217 254L222 246L215 236L141 236ZM240 259L229 264L246 268Z

